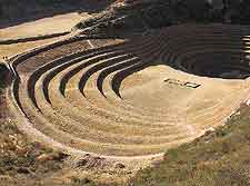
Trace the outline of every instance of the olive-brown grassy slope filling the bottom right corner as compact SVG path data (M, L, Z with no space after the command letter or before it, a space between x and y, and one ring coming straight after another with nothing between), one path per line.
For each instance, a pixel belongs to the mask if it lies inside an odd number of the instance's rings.
M138 173L133 186L249 186L250 109L191 144L169 150L164 160Z

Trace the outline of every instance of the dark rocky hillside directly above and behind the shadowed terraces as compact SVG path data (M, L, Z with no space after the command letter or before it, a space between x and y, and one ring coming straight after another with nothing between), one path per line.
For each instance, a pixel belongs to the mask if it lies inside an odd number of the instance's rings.
M184 22L248 25L249 10L248 0L118 0L76 28L84 35L110 37Z

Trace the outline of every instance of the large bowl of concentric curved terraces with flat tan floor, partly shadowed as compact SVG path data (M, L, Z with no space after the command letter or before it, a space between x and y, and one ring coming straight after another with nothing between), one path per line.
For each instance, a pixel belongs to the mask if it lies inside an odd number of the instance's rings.
M90 40L96 48L73 37L16 57L9 101L19 127L53 147L159 156L224 124L247 100L249 36L247 27L183 25L124 42Z

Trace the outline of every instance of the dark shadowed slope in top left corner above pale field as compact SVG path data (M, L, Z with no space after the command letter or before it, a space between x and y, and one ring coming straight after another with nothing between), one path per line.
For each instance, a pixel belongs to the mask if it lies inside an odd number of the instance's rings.
M114 0L1 0L0 28L69 12L98 12Z

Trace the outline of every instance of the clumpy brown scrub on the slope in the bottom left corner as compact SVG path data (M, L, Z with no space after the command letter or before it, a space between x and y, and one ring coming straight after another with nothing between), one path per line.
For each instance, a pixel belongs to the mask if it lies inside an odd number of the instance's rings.
M0 124L0 176L42 178L60 170L67 155L39 143L29 143L11 121Z

